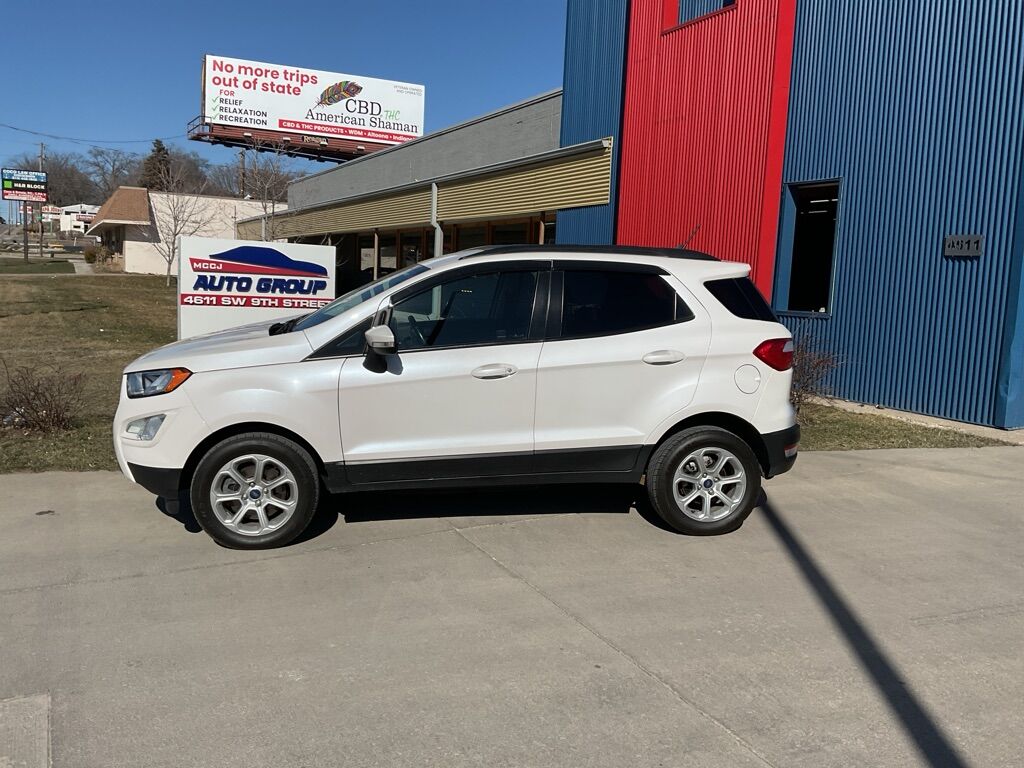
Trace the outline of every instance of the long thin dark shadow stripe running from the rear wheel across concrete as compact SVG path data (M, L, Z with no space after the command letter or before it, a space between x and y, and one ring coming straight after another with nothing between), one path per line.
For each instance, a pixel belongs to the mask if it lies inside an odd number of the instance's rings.
M856 611L843 599L827 573L804 547L800 537L766 498L761 514L790 559L800 570L837 633L857 658L890 712L913 742L925 764L964 768L967 763L906 682L905 676L881 648Z

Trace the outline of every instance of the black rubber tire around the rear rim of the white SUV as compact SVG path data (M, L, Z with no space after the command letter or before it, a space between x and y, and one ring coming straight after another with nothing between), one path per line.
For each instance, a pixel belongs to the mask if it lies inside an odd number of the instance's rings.
M699 520L686 514L677 502L673 489L676 470L694 452L702 449L708 449L710 452L715 450L729 452L742 466L744 474L745 487L738 495L738 505L719 519ZM727 466L731 470L731 464ZM689 483L682 487L689 492L691 486L697 485ZM737 484L725 483L724 489L727 493L735 493L738 487ZM674 434L654 451L647 464L647 496L658 516L681 534L691 536L728 534L743 524L743 520L751 514L761 496L761 465L751 446L732 432L718 427L691 427ZM701 500L695 499L694 502L696 501ZM720 505L720 510L725 509L720 499L702 501L702 504L712 503ZM702 508L698 508L697 511L700 509Z

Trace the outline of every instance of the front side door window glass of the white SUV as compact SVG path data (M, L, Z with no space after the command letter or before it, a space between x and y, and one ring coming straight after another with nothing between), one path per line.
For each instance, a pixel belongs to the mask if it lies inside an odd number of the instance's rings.
M397 302L390 327L398 349L508 344L529 339L539 273L457 278Z

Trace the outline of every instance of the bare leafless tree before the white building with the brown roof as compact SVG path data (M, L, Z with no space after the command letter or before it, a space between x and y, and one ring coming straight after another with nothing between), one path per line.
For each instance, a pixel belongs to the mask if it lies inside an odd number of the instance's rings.
M169 163L160 168L157 180L162 193L150 196L157 229L154 246L167 262L167 285L170 286L178 239L199 234L210 225L215 214L208 201L201 197L205 182L194 189L195 180L186 166Z

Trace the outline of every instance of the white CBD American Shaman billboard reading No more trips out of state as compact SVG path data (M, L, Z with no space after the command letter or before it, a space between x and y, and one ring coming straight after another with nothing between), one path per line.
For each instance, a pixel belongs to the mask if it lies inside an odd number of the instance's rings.
M423 135L424 87L207 54L203 122L388 144Z

